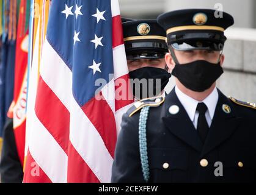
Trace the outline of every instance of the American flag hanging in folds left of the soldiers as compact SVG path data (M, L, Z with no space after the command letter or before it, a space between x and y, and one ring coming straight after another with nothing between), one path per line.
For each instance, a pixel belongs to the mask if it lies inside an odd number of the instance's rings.
M118 0L53 0L35 100L27 100L24 182L111 181L120 120L133 102L117 100L117 88L128 94L120 79L128 68Z

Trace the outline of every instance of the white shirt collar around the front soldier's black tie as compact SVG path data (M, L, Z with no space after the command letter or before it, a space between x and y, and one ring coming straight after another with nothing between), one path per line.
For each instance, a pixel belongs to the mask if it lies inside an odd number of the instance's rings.
M196 99L193 99L180 91L180 89L175 86L175 93L177 94L178 99L180 100L181 104L185 108L186 112L188 113L189 118L191 121L194 121L195 113L196 113L196 108L197 104L199 101ZM215 108L217 105L219 99L219 94L217 91L217 88L215 87L214 90L205 98L202 102L207 105L207 112L209 112L211 119L213 119L213 115L215 112Z

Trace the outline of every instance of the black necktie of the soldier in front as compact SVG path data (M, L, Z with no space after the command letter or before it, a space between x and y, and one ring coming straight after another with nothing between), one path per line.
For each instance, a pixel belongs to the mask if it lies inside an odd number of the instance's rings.
M197 104L197 111L199 112L199 117L197 120L197 132L199 133L199 137L205 143L205 139L207 138L207 133L209 130L207 119L205 118L205 112L207 112L207 105L203 102Z

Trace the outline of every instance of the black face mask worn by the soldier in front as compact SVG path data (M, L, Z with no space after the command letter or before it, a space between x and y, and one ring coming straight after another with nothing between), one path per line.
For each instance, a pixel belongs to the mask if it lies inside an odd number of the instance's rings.
M192 91L205 91L221 76L223 69L221 63L210 63L197 60L186 64L177 64L172 75Z

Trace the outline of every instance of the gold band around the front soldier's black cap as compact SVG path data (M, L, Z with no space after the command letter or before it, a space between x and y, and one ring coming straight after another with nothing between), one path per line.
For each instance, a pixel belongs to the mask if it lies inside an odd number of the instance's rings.
M170 29L166 30L167 34L170 34L172 32L180 31L180 30L218 30L221 32L224 32L224 28L219 27L219 26L177 26L177 27L172 27Z

